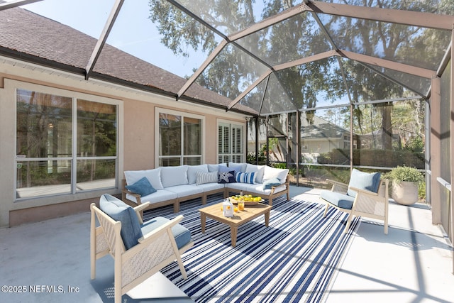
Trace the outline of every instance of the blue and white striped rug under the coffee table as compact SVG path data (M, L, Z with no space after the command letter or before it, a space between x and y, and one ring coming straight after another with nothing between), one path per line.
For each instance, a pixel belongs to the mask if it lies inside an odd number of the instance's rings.
M182 255L187 280L177 263L161 270L195 302L323 302L359 223L354 219L345 234L347 214L331 208L323 218L323 204L280 197L273 201L270 225L260 216L240 226L233 248L225 224L207 218L201 233L199 204L183 202L180 212L194 241ZM175 214L168 207L148 216Z

